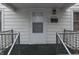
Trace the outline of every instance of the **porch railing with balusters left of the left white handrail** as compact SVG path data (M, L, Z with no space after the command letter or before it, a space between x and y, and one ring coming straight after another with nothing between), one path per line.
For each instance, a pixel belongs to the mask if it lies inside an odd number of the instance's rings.
M0 32L0 55L6 55L13 44L17 33L13 30Z

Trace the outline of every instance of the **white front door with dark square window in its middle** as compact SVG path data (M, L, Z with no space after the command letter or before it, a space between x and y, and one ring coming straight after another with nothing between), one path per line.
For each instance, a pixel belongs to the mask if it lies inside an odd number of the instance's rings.
M43 44L46 41L46 20L43 12L32 13L31 43Z

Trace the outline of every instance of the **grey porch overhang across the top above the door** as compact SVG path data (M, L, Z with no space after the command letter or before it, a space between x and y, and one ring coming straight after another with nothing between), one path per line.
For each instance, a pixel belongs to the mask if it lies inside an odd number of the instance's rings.
M3 5L13 9L20 10L25 8L61 8L67 9L75 3L2 3Z

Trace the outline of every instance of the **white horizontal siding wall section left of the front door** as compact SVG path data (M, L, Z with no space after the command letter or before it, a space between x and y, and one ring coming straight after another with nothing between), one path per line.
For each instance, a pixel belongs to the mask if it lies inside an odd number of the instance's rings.
M15 32L21 33L21 43L29 43L29 15L21 16L22 13L0 5L3 8L3 30L13 29Z

